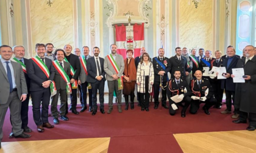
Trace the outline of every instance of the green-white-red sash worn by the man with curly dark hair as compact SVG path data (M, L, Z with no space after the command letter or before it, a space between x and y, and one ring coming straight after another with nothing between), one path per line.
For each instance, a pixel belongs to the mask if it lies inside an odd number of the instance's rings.
M66 74L65 70L60 66L59 61L55 60L52 61L52 64L54 65L55 69L60 73L60 76L62 76L63 80L66 81L66 94L70 95L72 93L72 87L69 82L69 77Z

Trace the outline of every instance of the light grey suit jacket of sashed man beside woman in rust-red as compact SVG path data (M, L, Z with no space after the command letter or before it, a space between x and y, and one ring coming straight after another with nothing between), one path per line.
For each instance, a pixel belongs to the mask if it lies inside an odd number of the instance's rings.
M119 67L118 77L121 77L124 73L124 58L122 55L116 53L116 64ZM104 71L106 72L106 79L107 81L113 81L112 75L116 74L116 71L110 61L108 60L107 56L105 56L104 60Z

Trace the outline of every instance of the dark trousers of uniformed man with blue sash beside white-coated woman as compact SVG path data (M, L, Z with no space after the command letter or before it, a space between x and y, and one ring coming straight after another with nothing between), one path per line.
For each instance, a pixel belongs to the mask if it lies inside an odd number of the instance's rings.
M159 88L160 88L160 83L159 82L154 82L154 101L155 104L159 104L158 96L159 96ZM166 82L163 82L163 86L166 86ZM162 104L166 105L166 87L165 90L162 90Z

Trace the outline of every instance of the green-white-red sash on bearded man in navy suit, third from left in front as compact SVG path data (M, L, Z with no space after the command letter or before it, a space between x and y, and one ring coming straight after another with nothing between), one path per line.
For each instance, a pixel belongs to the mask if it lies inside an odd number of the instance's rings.
M31 58L31 59L35 62L35 64L37 64L38 67L40 67L40 69L44 72L46 77L49 78L50 77L49 69L43 63L43 61L38 56L35 56L35 57ZM57 93L54 81L52 81L52 83L50 84L50 89L51 89L51 95L54 96Z

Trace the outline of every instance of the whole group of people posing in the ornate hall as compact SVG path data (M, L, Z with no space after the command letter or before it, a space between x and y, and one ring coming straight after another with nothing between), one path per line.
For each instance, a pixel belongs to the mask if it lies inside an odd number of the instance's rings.
M227 47L227 55L221 56L221 51L215 51L212 58L210 50L191 50L176 47L176 55L167 58L163 48L158 49L158 56L150 58L144 47L141 55L133 58L133 50L126 51L127 58L116 53L118 46L110 46L111 53L105 58L99 56L99 47L93 48L90 56L88 46L74 49L69 44L63 49L54 50L54 45L36 44L36 56L26 59L23 46L0 46L0 148L2 140L2 126L5 114L10 107L10 121L12 123L12 137L29 138L32 132L28 124L29 97L32 100L32 110L38 132L44 132L44 127L54 128L48 121L48 106L51 101L51 115L54 124L59 124L59 118L68 121L68 110L78 115L77 88L80 93L80 103L84 112L87 109L87 89L89 97L89 111L92 115L98 112L97 94L99 94L100 112L104 110L104 85L108 85L108 110L113 110L113 95L117 98L118 112L122 112L122 90L126 102L125 110L134 109L135 87L137 87L138 106L141 111L149 111L149 97L154 95L154 109L162 107L169 109L170 115L182 107L181 116L186 117L190 106L190 114L196 114L201 103L202 109L210 115L209 109L214 106L221 108L222 96L225 90L227 109L221 114L232 113L232 101L236 118L234 123L246 123L247 130L254 131L256 127L256 104L253 92L256 88L256 57L254 46L246 46L244 56L235 55L232 46ZM14 54L14 58L12 58ZM204 67L226 67L223 74L226 79L204 77ZM235 76L232 69L243 68L245 83L233 83ZM171 77L168 77L168 72ZM68 107L68 95L71 106ZM161 100L159 100L161 95ZM60 109L57 103L60 97ZM167 98L169 106L166 104ZM21 102L22 101L22 102ZM184 103L184 104L182 104Z

